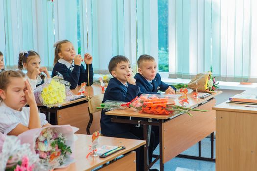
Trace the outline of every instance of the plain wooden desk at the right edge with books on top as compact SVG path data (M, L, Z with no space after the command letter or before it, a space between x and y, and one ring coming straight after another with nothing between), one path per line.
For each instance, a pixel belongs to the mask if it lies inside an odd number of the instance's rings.
M216 110L216 171L257 171L257 108L221 103Z

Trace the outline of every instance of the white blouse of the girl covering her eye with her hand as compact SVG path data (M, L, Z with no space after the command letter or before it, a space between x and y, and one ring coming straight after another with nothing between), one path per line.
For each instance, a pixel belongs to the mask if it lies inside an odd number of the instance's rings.
M39 113L39 118L41 126L48 123L44 113ZM8 134L18 124L28 127L28 122L29 107L22 107L22 111L17 111L0 102L0 132Z

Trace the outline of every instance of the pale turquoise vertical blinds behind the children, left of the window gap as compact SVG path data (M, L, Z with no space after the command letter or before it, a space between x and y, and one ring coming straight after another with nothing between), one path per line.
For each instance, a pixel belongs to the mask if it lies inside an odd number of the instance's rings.
M0 0L0 9L6 40L0 50L9 68L16 67L19 51L34 49L51 69L53 44L62 39L91 53L99 73L115 55L127 56L135 70L141 54L158 60L157 0Z

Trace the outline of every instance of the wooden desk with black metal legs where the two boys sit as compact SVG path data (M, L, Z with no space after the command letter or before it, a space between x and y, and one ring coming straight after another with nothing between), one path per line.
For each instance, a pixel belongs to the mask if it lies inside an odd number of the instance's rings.
M182 115L153 115L142 114L134 111L132 108L123 110L112 110L106 112L107 115L112 115L112 122L131 123L142 125L144 131L144 140L148 139L147 126L159 126L160 133L160 154L156 159L148 165L148 160L145 161L145 170L149 169L157 160L160 159L160 171L164 170L164 163L178 156L181 152L187 150L192 145L199 142L199 156L179 155L180 157L193 158L200 160L215 161L213 157L213 139L215 131L215 111L212 107L215 106L215 96L221 94L222 91L212 93L212 95L200 99L192 97L192 90L188 90L189 104L187 107L208 110L208 112L190 111L193 117L188 114ZM179 104L176 100L176 104ZM117 116L127 116L128 119L120 119ZM129 119L131 117L131 119ZM139 118L145 118L140 120ZM211 134L211 157L201 157L201 140ZM148 157L148 141L144 148L144 156Z

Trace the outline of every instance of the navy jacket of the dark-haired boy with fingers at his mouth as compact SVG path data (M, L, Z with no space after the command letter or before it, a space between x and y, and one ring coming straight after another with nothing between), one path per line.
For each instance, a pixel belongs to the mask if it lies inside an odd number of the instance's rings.
M104 93L103 103L106 100L115 100L130 102L138 93L140 88L136 85L128 84L126 87L116 78L111 78ZM126 133L130 131L130 124L114 123L111 122L111 116L105 114L106 111L102 110L101 113L101 133L105 136ZM124 118L124 117L119 117Z

